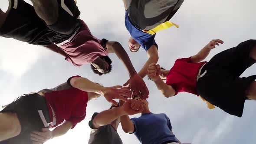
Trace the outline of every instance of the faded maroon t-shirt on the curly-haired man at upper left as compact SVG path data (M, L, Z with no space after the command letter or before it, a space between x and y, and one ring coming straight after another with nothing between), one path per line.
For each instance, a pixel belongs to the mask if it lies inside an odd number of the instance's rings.
M81 20L82 26L69 43L60 48L68 55L67 61L75 66L93 62L99 56L107 56L108 51L102 40L92 36L88 26Z

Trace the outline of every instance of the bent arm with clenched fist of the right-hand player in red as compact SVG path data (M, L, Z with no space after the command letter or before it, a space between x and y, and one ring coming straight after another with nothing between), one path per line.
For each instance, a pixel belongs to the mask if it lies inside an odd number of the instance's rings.
M148 76L154 81L155 85L157 86L158 90L166 97L169 98L174 96L176 91L170 85L164 83L164 81L160 78L160 65L155 63L151 63L148 66Z

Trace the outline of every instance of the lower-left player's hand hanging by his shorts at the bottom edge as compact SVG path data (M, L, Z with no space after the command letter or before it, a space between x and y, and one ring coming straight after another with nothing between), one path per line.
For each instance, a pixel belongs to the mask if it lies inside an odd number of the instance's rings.
M42 128L42 132L33 131L30 136L33 144L43 144L49 139L53 138L52 131L50 131L48 128Z

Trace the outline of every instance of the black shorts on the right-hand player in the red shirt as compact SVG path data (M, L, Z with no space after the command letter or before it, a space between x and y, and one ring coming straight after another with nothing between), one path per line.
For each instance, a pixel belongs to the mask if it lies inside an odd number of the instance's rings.
M247 78L240 78L240 75L256 62L249 57L255 45L256 40L248 40L215 55L203 66L201 74L207 72L198 79L198 94L230 115L242 117L246 89L256 75Z

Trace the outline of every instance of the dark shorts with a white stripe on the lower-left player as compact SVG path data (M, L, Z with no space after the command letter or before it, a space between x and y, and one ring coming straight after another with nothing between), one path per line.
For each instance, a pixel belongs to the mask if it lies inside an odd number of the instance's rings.
M22 96L0 112L16 113L21 125L21 132L18 136L2 141L0 144L32 144L30 133L48 128L43 124L43 118L50 123L46 99L38 94Z

